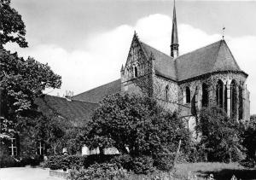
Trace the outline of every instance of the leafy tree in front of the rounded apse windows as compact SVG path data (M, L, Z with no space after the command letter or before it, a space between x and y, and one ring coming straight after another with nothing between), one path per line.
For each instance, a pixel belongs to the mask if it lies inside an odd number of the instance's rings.
M197 130L201 131L200 143L208 154L208 160L237 159L241 149L240 128L237 121L228 118L223 109L203 107Z

